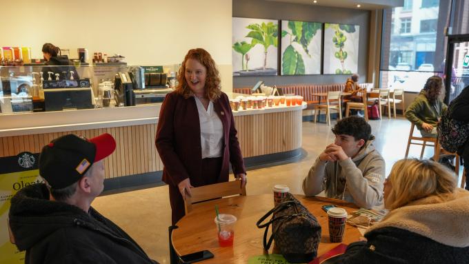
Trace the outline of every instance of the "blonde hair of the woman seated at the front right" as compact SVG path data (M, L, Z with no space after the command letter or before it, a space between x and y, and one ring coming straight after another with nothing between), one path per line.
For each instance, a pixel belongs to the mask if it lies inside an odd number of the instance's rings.
M448 196L455 192L455 174L430 160L401 159L388 176L392 188L384 199L389 210L427 196Z

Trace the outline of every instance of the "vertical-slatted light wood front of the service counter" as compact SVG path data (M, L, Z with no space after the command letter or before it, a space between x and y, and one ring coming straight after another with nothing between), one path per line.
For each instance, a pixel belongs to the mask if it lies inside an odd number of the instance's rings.
M301 148L301 110L234 116L243 156L262 156ZM52 139L64 134L77 134L90 139L109 133L117 148L107 159L106 179L163 170L154 146L156 124L130 125L115 128L72 130L45 134L0 137L0 157L21 152L39 153Z

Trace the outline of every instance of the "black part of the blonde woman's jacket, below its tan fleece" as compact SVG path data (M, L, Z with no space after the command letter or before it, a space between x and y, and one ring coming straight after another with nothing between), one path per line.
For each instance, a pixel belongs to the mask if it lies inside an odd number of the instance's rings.
M443 245L426 236L397 227L372 230L365 237L368 242L348 245L346 253L336 264L469 263L469 247Z

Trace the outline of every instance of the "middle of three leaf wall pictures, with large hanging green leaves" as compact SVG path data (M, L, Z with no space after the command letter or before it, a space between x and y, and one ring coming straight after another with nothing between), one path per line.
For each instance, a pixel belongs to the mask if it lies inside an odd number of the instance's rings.
M321 74L322 23L281 21L281 74Z

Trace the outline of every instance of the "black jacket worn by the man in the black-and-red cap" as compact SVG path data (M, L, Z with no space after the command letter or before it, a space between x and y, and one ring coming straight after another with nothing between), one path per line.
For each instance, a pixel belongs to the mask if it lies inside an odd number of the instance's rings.
M11 199L10 227L25 263L155 263L112 221L90 207L49 201L45 184Z

